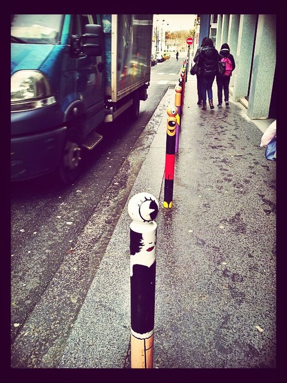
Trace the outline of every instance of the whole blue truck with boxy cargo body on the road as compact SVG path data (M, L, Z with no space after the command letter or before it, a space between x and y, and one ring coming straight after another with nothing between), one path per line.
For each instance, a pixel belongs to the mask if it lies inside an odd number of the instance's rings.
M11 181L72 183L103 123L139 114L152 15L11 15Z

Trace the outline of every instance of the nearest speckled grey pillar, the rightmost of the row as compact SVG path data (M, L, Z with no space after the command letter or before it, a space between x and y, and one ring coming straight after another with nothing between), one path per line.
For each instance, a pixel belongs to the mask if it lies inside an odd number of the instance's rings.
M276 15L259 15L247 116L268 118L276 64Z

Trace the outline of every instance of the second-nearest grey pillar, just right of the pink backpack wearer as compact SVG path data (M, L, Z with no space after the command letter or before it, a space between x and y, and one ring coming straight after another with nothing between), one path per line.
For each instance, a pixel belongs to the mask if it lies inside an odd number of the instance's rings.
M236 57L234 56L236 68L232 73L234 101L248 93L256 18L256 15L240 15L237 51Z

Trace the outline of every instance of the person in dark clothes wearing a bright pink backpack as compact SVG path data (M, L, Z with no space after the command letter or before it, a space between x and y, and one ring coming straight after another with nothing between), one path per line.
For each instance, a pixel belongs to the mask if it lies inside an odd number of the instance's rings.
M217 96L218 96L218 105L222 105L222 88L224 91L224 101L225 105L229 106L229 83L230 77L232 76L232 72L235 69L235 61L232 54L230 54L230 48L228 44L222 44L221 49L219 51L219 60L225 62L225 73L223 75L216 76L217 83Z

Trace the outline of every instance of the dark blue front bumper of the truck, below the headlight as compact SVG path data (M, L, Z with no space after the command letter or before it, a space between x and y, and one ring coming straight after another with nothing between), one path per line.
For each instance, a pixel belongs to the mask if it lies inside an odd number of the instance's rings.
M11 181L49 173L60 161L67 127L45 133L11 137Z

